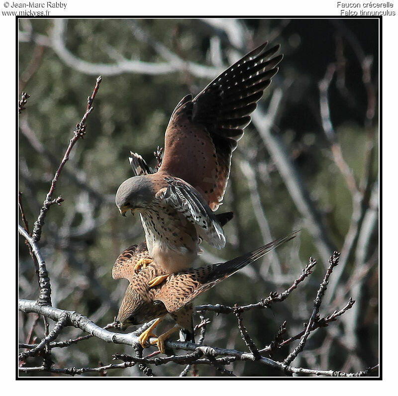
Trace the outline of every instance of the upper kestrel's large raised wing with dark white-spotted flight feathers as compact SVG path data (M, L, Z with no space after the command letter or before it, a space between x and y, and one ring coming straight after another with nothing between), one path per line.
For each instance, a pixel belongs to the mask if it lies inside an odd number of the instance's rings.
M266 46L229 67L195 99L183 98L166 130L160 170L195 187L212 210L224 196L237 141L283 58L273 57L279 45L268 51Z

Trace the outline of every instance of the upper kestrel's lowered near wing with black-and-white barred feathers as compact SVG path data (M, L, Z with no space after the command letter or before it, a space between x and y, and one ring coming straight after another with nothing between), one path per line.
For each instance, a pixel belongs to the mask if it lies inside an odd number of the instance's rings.
M225 246L222 227L201 195L183 180L165 177L167 188L156 195L195 225L199 236L212 246Z

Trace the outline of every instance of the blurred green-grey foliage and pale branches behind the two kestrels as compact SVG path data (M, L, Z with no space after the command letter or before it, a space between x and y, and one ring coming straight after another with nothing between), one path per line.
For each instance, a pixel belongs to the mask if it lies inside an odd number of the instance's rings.
M273 340L284 320L289 335L302 329L328 257L336 249L342 252L344 264L340 273L336 269L332 275L336 283L329 285L321 315L341 308L350 296L357 302L341 320L316 331L294 365L343 371L375 365L379 353L378 22L20 19L19 90L31 97L19 119L19 191L30 227L74 126L85 112L95 80L102 75L87 134L73 149L57 184L54 197L61 195L65 202L49 210L39 244L51 279L53 305L87 315L100 326L113 321L127 281L112 280L112 265L123 249L144 237L137 216L123 218L114 205L117 187L133 175L129 151L140 153L154 166L153 151L163 146L169 117L179 100L188 93L199 93L229 64L269 40L271 45L281 44L285 58L254 113L258 121L245 129L232 158L221 208L235 213L225 226L227 246L216 251L203 244L205 252L198 264L224 261L294 229L302 231L276 254L240 271L196 303L257 302L272 291L285 290L300 275L309 256L316 258L314 274L287 301L272 310L243 314L249 334L262 348ZM129 71L131 62L140 65L139 70ZM165 68L154 70L153 65ZM330 114L322 118L319 83L328 73ZM283 147L295 173L281 176L275 152L261 132L261 119L272 121L268 126L271 137ZM331 139L325 133L325 121L334 129ZM333 147L341 149L342 162ZM344 164L348 177L341 171ZM347 184L350 175L355 189ZM318 223L315 228L300 206L301 198L294 198L287 188L288 179L308 195ZM370 222L366 222L368 215ZM19 296L38 296L24 243L19 251ZM33 316L20 314L20 342L26 341ZM211 323L205 344L247 349L234 315L206 316ZM61 335L68 339L80 334L68 328ZM41 321L33 335L43 337ZM289 348L292 346L272 357L283 359ZM99 361L109 363L115 352L131 350L93 338L55 348L52 353L56 367L96 367ZM31 359L28 365L38 362ZM280 375L248 362L236 362L228 369L238 376ZM154 372L178 375L181 370L166 365ZM211 367L198 370L201 376L217 375ZM107 375L142 373L133 367L111 370Z

